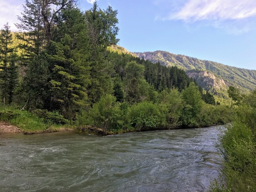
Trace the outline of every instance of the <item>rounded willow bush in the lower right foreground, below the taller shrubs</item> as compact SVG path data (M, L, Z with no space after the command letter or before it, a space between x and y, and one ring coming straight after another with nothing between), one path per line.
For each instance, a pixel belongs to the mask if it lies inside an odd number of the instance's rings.
M256 191L256 150L251 129L239 121L232 123L221 136L219 148L223 177L212 182L209 191Z

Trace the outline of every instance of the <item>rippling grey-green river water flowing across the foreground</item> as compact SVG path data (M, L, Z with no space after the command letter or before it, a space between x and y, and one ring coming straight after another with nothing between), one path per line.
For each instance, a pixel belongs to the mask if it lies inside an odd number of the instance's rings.
M221 168L219 133L0 134L0 191L206 191Z

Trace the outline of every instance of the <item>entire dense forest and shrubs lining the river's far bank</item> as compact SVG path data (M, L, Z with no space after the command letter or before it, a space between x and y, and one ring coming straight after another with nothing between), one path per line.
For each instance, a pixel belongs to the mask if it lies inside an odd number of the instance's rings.
M119 41L111 6L95 2L82 12L74 0L27 0L18 19L20 32L7 23L0 34L1 120L24 130L66 124L114 132L230 120L232 111L184 70L109 49Z

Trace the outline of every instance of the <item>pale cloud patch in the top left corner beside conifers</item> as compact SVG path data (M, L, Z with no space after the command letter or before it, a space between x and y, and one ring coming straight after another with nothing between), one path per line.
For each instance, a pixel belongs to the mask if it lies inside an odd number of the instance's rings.
M19 22L19 20L17 20L17 15L20 15L22 5L17 5L17 3L13 1L5 0L0 0L0 4L0 28L3 28L6 22L9 22L11 30L17 31L18 29L15 27L14 23Z

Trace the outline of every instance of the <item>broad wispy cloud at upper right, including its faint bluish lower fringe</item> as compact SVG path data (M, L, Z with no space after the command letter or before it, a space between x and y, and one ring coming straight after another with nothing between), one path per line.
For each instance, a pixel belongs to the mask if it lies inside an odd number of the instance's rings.
M158 15L156 20L181 20L187 26L211 25L235 35L255 28L256 0L181 0L172 5L169 13Z

